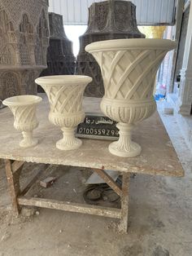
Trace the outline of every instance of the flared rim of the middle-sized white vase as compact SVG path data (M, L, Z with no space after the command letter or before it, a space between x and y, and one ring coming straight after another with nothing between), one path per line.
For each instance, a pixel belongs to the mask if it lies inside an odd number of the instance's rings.
M93 80L92 77L89 76L81 76L81 75L55 75L55 76L46 76L46 77L38 77L35 79L35 82L42 86L72 86L89 83Z

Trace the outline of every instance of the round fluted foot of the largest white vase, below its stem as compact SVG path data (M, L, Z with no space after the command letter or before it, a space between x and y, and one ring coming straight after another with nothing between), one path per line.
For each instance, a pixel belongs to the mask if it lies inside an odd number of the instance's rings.
M109 152L118 157L136 157L142 151L139 144L131 142L128 144L121 144L119 141L115 141L109 145Z

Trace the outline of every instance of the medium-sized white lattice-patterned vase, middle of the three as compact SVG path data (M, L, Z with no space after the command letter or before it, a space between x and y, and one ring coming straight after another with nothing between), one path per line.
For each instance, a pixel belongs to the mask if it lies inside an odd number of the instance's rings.
M56 143L56 148L60 150L72 150L81 146L81 139L75 137L75 128L84 121L82 99L85 87L91 81L91 77L73 75L39 77L35 80L48 96L50 122L63 131L63 139Z

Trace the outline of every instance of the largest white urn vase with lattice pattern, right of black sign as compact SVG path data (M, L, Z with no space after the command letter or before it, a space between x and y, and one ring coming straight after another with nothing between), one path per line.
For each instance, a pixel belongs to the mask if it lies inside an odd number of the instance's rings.
M166 39L117 39L93 42L85 51L97 60L103 76L103 113L118 121L120 139L109 145L119 157L135 157L141 147L131 139L138 121L155 112L155 75L166 53L177 46Z

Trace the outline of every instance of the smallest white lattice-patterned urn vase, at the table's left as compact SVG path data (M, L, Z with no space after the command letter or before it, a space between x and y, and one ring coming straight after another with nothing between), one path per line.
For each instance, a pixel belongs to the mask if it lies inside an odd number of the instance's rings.
M41 97L36 95L20 95L2 101L14 115L15 129L20 130L24 137L20 141L20 147L29 148L38 143L38 140L33 138L33 130L38 126L36 108L41 100Z

